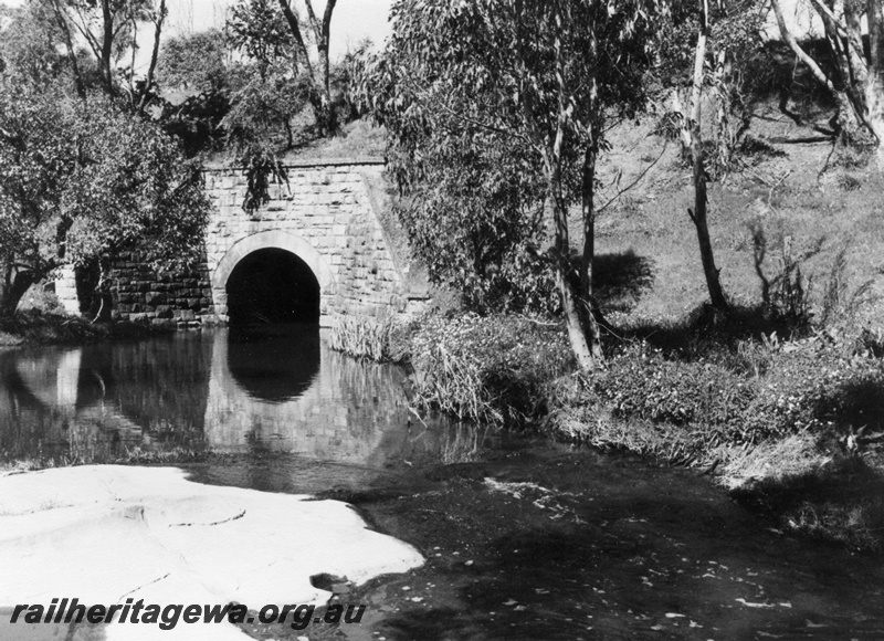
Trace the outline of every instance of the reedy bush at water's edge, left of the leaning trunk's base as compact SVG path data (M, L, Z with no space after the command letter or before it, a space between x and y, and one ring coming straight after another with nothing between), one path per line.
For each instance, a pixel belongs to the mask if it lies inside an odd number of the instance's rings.
M420 409L495 425L541 417L548 385L573 368L562 329L522 316L431 316L410 353Z

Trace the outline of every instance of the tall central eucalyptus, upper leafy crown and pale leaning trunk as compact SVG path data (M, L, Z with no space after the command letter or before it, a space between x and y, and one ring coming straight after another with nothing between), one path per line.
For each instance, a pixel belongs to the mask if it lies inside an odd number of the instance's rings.
M428 146L449 151L452 172L481 170L469 154L476 145L464 140L481 146L482 136L494 136L530 181L539 181L552 228L545 256L585 370L601 358L592 302L596 161L606 147L606 119L614 112L633 115L644 104L644 74L664 11L656 0L399 0L386 51L367 74L371 107L398 153L394 174L413 168L421 179ZM572 204L582 219L577 270ZM480 206L473 213L496 211Z

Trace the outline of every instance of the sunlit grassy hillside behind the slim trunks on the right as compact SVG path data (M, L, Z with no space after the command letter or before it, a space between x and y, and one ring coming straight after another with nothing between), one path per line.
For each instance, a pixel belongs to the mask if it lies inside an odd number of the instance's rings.
M600 171L600 204L660 159L600 214L598 275L609 313L674 319L707 300L707 293L686 213L694 197L690 168L680 159L677 143L666 145L650 130L649 119L610 135L613 148ZM848 290L871 280L870 296L884 295L884 179L874 161L866 164L859 153L831 154L828 141L801 141L819 136L772 103L758 109L748 135L754 153L740 156L741 168L709 183L709 230L726 293L741 303L760 301L751 231L760 225L768 240L761 264L768 279L780 269L782 241L790 238L794 259L813 254L801 263L801 272L817 304L842 248ZM577 224L573 233L579 235ZM880 309L866 305L863 314L875 322Z

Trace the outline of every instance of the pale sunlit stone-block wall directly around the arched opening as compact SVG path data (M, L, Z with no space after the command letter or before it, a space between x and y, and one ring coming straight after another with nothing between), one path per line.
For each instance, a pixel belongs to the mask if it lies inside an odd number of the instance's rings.
M404 280L372 210L366 180L367 174L380 174L382 164L330 160L290 165L286 170L287 182L272 183L270 201L252 213L242 208L246 178L241 170L206 174L206 188L215 202L206 242L214 315L227 319L224 285L235 263L266 246L292 251L311 266L320 285L322 324L336 314L403 311Z

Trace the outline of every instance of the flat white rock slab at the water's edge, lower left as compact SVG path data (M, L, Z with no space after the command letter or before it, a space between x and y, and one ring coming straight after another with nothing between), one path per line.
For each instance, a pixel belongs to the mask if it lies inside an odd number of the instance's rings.
M423 563L346 503L201 485L175 467L84 465L0 476L0 608L325 605L311 577L360 584ZM6 618L4 618L6 619ZM21 619L20 619L21 621ZM42 626L42 624L41 624ZM0 622L10 628L27 623ZM18 630L24 634L24 630ZM228 623L110 623L110 640L245 639ZM204 635L204 637L202 637ZM11 638L11 637L10 637Z

